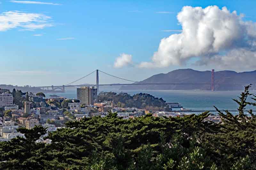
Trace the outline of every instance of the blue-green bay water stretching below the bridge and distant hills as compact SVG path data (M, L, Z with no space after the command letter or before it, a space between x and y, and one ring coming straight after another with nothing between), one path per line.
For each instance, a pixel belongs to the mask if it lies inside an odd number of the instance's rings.
M163 98L166 102L179 102L183 107L192 110L215 110L213 106L219 109L236 110L237 104L232 99L238 99L242 91L199 91L199 90L119 90L119 89L100 89L104 92L126 92L128 94L148 93L158 98ZM251 91L256 94L256 91ZM76 98L76 89L67 89L65 93L56 94L61 97ZM252 101L249 99L248 101ZM255 110L256 108L248 107Z

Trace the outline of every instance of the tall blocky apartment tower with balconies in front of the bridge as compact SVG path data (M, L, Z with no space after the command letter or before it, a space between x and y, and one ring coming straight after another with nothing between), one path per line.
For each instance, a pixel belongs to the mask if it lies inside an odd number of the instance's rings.
M89 86L77 88L76 94L81 104L93 105L97 102L97 88Z

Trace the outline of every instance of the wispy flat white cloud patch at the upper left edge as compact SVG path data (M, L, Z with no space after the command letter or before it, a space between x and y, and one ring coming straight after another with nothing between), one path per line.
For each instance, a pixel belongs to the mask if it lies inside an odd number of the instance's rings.
M49 22L51 17L39 13L26 13L21 11L8 11L0 14L0 31L12 28L21 30L36 30L44 27L53 26Z

